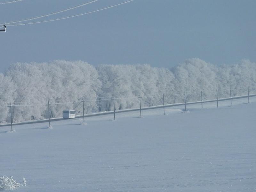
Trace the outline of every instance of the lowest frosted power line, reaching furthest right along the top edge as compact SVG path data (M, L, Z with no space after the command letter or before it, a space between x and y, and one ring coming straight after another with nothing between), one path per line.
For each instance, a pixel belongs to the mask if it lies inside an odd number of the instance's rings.
M68 16L68 17L62 17L62 18L57 18L57 19L52 19L52 20L37 21L37 22L31 22L31 23L11 24L9 26L32 25L32 24L36 24L36 23L45 23L45 22L50 22L50 21L68 19L68 18L72 18L72 17L78 17L78 16L90 14L90 13L93 13L93 12L98 12L98 11L102 11L102 10L109 9L109 8L112 8L112 7L116 7L118 5L126 4L126 3L129 3L131 1L134 1L134 0L128 0L128 1L125 1L125 2L122 2L122 3L119 3L119 4L111 5L111 6L104 7L104 8L101 8L101 9L97 9L97 10L94 10L94 11L81 13L81 14L77 14L77 15L72 15L72 16Z

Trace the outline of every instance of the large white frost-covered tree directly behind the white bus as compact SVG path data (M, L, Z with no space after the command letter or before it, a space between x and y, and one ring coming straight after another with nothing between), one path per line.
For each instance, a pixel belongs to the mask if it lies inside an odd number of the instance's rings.
M70 108L82 113L83 98L86 100L86 113L97 110L96 101L93 100L97 98L101 82L97 70L92 65L83 61L56 60L42 65L42 68L45 69L44 76L49 82L47 89L52 117L61 116L62 110Z

